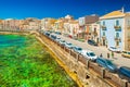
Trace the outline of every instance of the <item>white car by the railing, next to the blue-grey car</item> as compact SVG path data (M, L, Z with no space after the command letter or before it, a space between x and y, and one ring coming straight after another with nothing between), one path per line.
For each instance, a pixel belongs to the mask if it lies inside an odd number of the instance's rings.
M90 50L82 50L81 54L84 58L90 59L92 61L95 61L98 59L98 55L95 55L95 53L93 51L90 51Z

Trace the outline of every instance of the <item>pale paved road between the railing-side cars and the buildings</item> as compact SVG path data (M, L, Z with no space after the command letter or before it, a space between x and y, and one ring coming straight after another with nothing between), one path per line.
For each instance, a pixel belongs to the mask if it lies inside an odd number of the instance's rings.
M79 46L82 49L92 50L92 51L94 51L94 53L96 55L100 55L102 53L103 58L107 58L107 53L112 53L110 51L107 50L106 47L94 47L94 46L88 45L87 42L81 42L81 41L78 41L78 40L74 40L72 38L68 38L68 37L65 37L65 36L62 36L62 35L56 35L56 36L63 38L66 41L72 42L76 46ZM114 53L114 57L115 58L110 57L109 60L112 60L115 64L117 64L118 66L129 66L130 67L130 59L121 57L120 53Z

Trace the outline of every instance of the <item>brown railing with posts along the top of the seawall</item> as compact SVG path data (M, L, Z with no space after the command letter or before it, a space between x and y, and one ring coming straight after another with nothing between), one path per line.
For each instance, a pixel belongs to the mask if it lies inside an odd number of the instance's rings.
M46 36L49 38L48 36ZM50 39L50 38L49 38ZM74 57L78 62L81 62L82 64L87 65L88 70L94 71L100 77L102 77L104 80L107 80L112 83L113 85L117 87L130 87L130 83L126 79L121 79L117 74L110 73L107 70L104 70L104 67L101 67L96 63L89 61L87 58L83 55L66 48L63 45L60 45L58 42L50 39L51 41L55 42L57 46L60 46L63 50L65 50L67 53L69 53L72 57Z

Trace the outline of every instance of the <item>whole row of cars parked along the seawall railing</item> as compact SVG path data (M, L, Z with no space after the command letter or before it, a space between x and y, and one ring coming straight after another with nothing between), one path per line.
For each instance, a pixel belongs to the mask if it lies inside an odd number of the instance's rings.
M110 60L101 58L91 50L84 50L78 46L73 45L72 42L68 42L62 39L61 37L57 37L55 34L51 34L49 32L44 32L44 35L55 40L60 45L63 45L66 48L69 48L72 51L82 54L86 59L98 63L100 66L108 70L109 72L117 73L120 78L126 78L130 82L130 67L120 66L118 69L116 64L114 64Z

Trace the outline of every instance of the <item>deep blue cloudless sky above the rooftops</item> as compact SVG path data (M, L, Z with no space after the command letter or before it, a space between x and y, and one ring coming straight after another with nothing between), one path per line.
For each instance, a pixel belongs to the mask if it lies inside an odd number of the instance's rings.
M122 7L130 12L130 0L0 0L0 18L102 16Z

